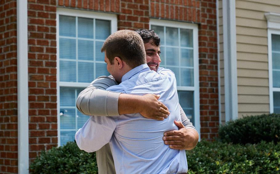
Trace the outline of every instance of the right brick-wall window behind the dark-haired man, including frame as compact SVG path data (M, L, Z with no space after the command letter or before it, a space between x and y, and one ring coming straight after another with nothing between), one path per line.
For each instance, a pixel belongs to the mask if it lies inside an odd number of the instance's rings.
M160 66L174 72L179 103L196 130L200 130L197 28L189 23L150 20L150 29L161 39Z

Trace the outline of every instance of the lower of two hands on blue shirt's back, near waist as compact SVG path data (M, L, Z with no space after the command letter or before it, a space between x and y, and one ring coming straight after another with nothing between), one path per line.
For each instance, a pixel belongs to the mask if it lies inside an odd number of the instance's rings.
M186 129L182 122L174 121L179 130L170 130L164 133L164 144L171 149L193 149L198 143L198 133L194 129Z

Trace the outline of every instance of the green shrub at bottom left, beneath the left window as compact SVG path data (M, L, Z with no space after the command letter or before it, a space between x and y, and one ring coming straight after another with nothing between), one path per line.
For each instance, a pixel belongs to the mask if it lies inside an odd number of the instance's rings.
M42 151L30 165L30 173L98 173L96 154L80 150L75 142Z

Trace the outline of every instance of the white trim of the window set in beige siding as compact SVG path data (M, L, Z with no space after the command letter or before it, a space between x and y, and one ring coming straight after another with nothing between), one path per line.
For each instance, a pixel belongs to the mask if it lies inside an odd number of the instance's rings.
M267 19L267 41L268 41L268 71L269 71L269 108L274 112L273 92L280 92L280 88L273 87L272 76L272 43L271 34L280 35L280 13L265 13Z

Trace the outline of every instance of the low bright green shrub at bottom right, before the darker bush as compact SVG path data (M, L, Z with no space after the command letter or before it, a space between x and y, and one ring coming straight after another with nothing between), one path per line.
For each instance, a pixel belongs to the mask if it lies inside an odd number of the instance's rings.
M280 173L280 142L234 145L202 140L186 155L188 174Z

